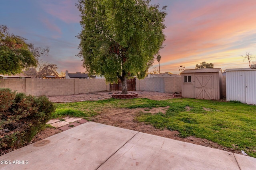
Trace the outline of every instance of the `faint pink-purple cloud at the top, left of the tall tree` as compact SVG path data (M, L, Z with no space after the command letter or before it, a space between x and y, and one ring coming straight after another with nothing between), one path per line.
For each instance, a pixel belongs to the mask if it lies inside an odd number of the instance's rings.
M75 6L76 3L76 0L44 0L41 1L41 6L48 14L65 23L78 23L80 13Z

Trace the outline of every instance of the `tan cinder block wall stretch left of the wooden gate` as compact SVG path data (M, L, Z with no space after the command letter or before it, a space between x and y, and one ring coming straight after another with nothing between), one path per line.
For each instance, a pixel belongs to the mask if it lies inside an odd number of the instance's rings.
M105 79L0 79L0 88L34 96L59 96L109 90Z

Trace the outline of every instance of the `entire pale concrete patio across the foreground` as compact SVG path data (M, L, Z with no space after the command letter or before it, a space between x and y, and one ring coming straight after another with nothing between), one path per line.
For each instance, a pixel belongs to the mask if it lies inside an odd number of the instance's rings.
M0 156L1 170L256 169L256 158L86 122ZM8 161L10 164L6 164Z

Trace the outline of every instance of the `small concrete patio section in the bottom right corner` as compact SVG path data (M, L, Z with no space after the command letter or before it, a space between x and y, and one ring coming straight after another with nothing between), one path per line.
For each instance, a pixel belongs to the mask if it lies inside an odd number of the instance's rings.
M241 170L256 170L256 158L234 154Z

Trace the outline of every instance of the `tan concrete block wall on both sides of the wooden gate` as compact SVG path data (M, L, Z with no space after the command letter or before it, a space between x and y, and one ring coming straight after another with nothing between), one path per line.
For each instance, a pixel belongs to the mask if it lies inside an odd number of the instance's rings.
M103 78L95 79L0 79L0 88L10 88L34 96L60 96L109 91ZM174 93L181 91L181 77L136 79L136 90Z

